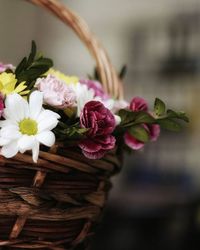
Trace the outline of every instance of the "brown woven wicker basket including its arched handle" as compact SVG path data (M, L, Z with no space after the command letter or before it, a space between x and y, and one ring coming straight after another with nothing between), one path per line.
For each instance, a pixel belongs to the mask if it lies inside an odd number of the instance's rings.
M85 22L57 0L29 0L70 26L96 60L107 93L123 95L105 50ZM0 249L88 249L110 189L119 171L115 152L86 159L78 148L62 145L40 151L37 164L29 153L0 158Z

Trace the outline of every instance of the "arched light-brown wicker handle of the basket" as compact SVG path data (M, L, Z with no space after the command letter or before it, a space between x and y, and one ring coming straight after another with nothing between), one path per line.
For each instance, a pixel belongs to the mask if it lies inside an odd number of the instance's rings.
M123 87L117 72L112 66L105 49L91 33L86 22L58 0L26 1L50 11L78 35L96 61L97 72L100 76L104 90L114 98L122 99Z

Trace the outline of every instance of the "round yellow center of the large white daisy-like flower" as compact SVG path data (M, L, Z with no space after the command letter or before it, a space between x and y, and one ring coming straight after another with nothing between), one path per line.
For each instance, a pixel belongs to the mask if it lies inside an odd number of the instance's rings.
M19 130L24 135L36 135L38 132L37 122L26 118L19 122Z

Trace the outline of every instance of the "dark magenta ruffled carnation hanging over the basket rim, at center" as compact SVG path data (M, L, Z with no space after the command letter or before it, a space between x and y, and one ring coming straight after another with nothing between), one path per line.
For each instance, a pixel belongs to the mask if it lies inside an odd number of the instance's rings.
M115 129L115 118L101 102L90 101L85 104L80 124L88 129L87 138L79 143L87 158L99 159L115 147L115 138L111 135Z

